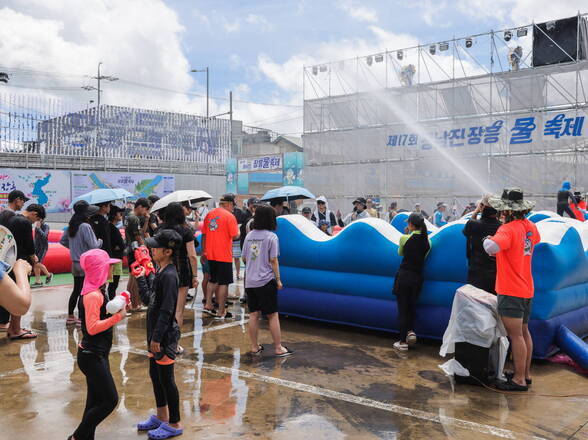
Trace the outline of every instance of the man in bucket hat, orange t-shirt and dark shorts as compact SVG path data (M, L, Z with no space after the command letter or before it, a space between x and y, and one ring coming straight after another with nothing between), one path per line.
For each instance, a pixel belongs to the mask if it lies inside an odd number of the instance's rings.
M534 296L531 263L541 237L526 215L535 203L525 200L520 189L507 188L502 197L490 197L488 204L504 221L496 234L484 240L484 249L496 256L498 315L510 339L514 362L514 375L497 386L506 391L527 391L533 354L528 325Z

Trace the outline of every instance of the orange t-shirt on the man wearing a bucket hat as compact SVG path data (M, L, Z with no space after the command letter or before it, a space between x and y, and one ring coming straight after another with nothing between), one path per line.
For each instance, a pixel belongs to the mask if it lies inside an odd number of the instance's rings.
M541 237L534 223L514 220L498 228L491 237L499 247L496 254L496 293L533 298L531 258Z

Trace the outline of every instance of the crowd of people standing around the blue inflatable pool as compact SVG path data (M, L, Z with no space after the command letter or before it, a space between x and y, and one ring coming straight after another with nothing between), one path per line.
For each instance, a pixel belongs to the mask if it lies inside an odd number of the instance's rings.
M564 201L569 203L574 194L565 184L562 192L565 197L558 194L558 211L561 208L562 212L568 212ZM46 282L52 277L42 264L49 233L45 209L38 204L23 209L27 201L24 193L13 191L8 197L8 208L0 213L0 225L13 233L18 246L17 262L8 277L6 265L0 266L0 326L9 339L37 336L20 325L20 317L31 301L28 277L34 274L33 286L41 285L41 274ZM215 320L232 318L227 310L227 296L234 282L233 267L237 280L241 277L241 262L245 267L244 287L250 313L250 355L259 355L264 350L258 340L258 321L262 315L268 319L274 355L292 354L282 344L278 318L277 293L282 289L282 281L279 242L274 233L276 218L289 213L289 207L281 200L266 204L252 198L241 210L235 196L225 194L218 207L210 211L186 201L150 212L156 201L154 196L139 198L127 209L111 202L91 205L78 201L63 232L61 244L69 249L73 275L66 324L81 328L77 360L88 387L82 421L69 437L71 440L93 438L96 427L115 408L118 396L108 363L113 327L132 313L140 312L147 313L149 375L157 413L140 422L138 429L149 431L150 438L168 438L183 432L174 362L184 351L179 341L188 291L201 286L205 315ZM484 196L475 206L466 208L471 210L471 218L463 230L469 262L467 281L497 295L498 314L512 343L514 371L507 382L499 384L509 391L526 391L532 383L532 340L528 330L533 298L531 257L540 236L525 216L533 206L518 189L505 190L500 197ZM408 217L406 234L399 242L402 262L393 288L400 333L394 348L399 351L407 351L417 342L415 309L423 285L425 261L432 247L425 219L431 218L435 225L442 226L448 221L444 215L446 208L445 203L439 202L428 217L420 204L416 204ZM383 217L392 221L401 211L392 203ZM324 196L316 199L314 209L305 207L301 214L329 235L337 226L380 217L373 200L363 197L353 200L353 210L345 216L340 211L331 211ZM202 251L198 255L195 226L200 219L203 220ZM135 251L142 246L149 249L154 273L149 273L144 265L139 265L138 271L131 271L127 283L129 306L109 314L106 304L117 293L123 275L122 259L126 256L129 267L134 267ZM198 279L198 257L204 274L202 284Z

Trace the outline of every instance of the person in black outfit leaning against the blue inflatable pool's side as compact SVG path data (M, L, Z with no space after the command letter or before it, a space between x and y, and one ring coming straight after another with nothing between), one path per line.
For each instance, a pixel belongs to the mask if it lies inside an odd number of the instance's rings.
M398 255L403 258L394 280L400 332L400 341L394 343L394 348L400 351L407 351L408 346L415 344L417 340L414 332L416 302L423 285L425 258L431 250L427 225L421 214L410 214L408 232L409 234L400 237Z

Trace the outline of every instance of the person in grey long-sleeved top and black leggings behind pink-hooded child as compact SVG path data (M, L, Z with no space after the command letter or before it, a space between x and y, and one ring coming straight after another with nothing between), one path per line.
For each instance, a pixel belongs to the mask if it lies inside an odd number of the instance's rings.
M71 257L71 274L74 278L74 285L69 297L66 324L79 324L80 320L74 315L78 298L84 285L84 270L80 265L80 258L84 252L91 249L98 249L102 246L102 240L96 238L90 217L98 212L98 207L80 200L74 205L74 215L69 220L69 225L61 236L62 246L69 249Z

